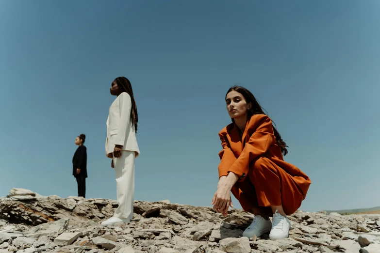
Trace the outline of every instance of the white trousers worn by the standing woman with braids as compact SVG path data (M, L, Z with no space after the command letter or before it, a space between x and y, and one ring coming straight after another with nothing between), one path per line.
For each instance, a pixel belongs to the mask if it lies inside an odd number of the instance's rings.
M120 158L114 159L116 172L116 195L119 206L114 217L132 220L134 195L135 152L121 151Z

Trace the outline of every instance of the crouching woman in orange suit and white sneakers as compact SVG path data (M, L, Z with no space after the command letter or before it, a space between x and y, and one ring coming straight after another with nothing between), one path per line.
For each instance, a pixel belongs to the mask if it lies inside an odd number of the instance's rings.
M255 215L244 237L270 232L272 240L286 238L290 229L286 215L297 211L311 181L283 160L287 145L251 92L234 86L227 92L226 104L232 123L219 132L223 150L212 205L226 217L233 207L232 191L243 209Z

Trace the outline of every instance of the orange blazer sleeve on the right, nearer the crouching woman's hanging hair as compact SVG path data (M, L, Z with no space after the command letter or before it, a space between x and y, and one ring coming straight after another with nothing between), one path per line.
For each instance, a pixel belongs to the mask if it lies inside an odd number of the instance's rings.
M240 156L233 162L228 172L239 176L239 181L246 178L249 163L255 158L264 155L272 144L276 143L271 119L266 115L254 115L250 119L248 127L254 132L246 142Z

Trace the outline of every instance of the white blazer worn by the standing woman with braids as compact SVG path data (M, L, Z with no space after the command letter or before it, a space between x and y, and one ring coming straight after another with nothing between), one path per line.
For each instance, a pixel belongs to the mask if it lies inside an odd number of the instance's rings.
M131 121L132 101L128 93L118 95L108 111L106 156L112 158L115 145L122 145L122 150L134 151L138 157L136 131Z

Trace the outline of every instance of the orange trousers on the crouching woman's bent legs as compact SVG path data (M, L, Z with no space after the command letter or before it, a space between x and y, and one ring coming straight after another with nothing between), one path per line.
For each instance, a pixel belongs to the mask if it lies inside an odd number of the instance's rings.
M273 215L269 206L281 205L291 215L304 198L293 177L265 157L252 161L246 179L236 182L231 191L245 211L262 208L268 216Z

